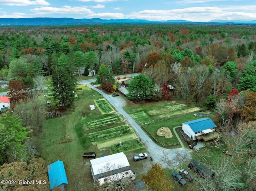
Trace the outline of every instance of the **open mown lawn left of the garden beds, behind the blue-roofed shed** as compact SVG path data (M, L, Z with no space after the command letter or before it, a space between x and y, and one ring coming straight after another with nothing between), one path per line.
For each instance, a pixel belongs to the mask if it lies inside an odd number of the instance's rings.
M89 105L100 95L85 86L83 89L86 91L78 91L78 100L66 111L65 116L44 121L42 132L36 141L40 145L41 157L49 164L57 160L64 162L69 183L67 190L72 190L74 185L80 185L84 190L94 191L89 160L83 160L82 155L84 152L96 152L97 156L102 156L110 152L98 150L79 128L82 118L102 116L99 110L89 109Z

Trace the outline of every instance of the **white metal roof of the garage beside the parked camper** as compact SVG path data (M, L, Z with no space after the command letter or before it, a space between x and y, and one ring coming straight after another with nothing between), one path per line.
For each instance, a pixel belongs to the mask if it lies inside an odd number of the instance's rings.
M122 167L130 166L129 161L123 152L96 158L96 159L91 159L90 162L92 165L92 170L94 175L112 171Z

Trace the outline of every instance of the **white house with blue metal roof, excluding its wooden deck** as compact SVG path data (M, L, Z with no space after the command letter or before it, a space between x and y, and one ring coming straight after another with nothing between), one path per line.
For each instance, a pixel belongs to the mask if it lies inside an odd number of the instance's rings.
M196 140L197 136L214 132L215 128L216 128L216 125L209 118L201 118L201 119L182 123L182 130L190 138L193 138L193 140Z

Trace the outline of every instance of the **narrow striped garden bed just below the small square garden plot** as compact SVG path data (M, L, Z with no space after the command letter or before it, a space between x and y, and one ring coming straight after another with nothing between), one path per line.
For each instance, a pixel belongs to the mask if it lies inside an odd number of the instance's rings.
M85 123L86 129L94 129L102 126L107 126L109 124L124 122L124 118L120 114L114 114L104 118L96 119Z

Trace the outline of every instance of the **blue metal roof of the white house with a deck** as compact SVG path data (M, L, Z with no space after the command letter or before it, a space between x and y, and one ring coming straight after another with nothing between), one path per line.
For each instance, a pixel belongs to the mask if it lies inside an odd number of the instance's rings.
M196 119L193 121L184 122L182 124L188 124L194 132L216 127L214 122L209 118Z

